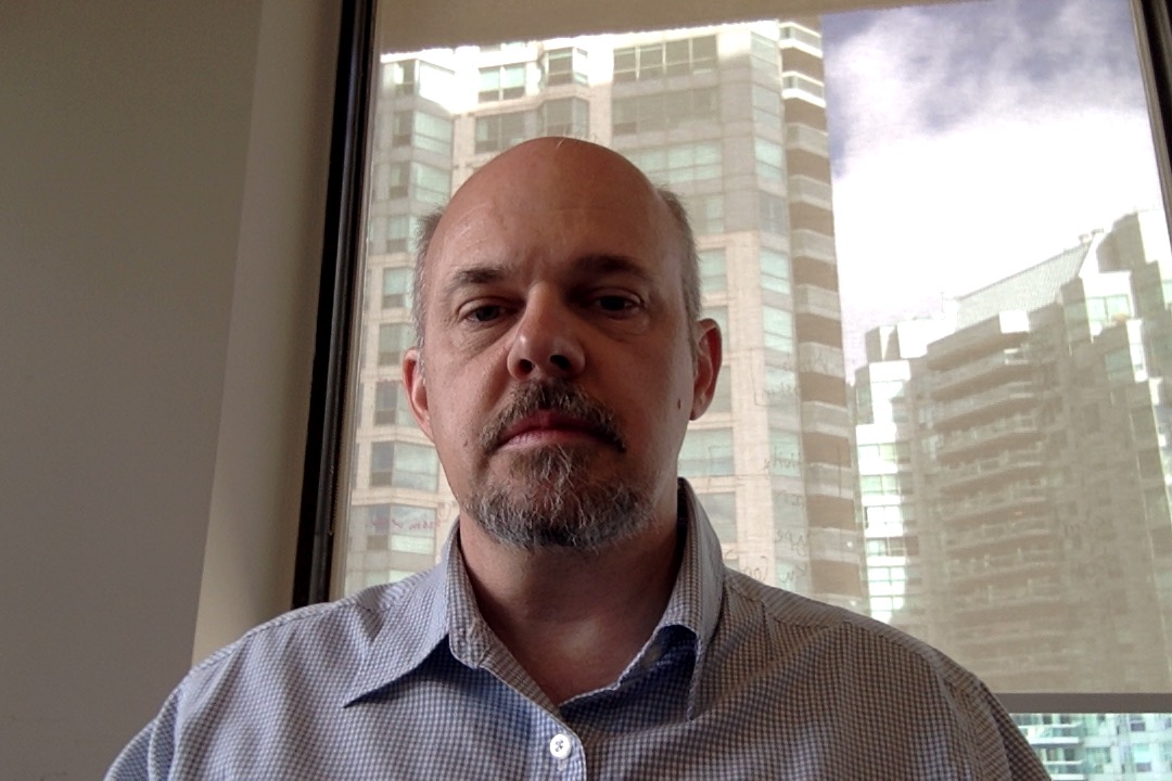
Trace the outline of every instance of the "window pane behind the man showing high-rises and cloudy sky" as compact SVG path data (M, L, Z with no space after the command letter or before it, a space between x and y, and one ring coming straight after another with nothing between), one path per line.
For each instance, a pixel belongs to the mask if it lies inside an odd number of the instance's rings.
M398 382L420 219L500 150L570 135L693 215L725 349L680 468L729 566L898 625L996 691L1172 690L1172 252L1139 208L1157 201L1127 14L960 4L381 55L381 295L338 590L425 568L456 515ZM959 28L982 57L1008 29L1038 46L979 59ZM1102 111L1070 109L1071 83ZM1085 748L1047 747L1056 767L1164 761L1164 739L1101 761L1106 727L1077 729Z

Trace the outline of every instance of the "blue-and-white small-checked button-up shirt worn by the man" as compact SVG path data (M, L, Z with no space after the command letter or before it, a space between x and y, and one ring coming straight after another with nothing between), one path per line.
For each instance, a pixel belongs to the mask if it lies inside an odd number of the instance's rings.
M613 684L554 705L435 569L264 624L195 667L107 779L1049 776L970 673L728 570L681 481L683 556Z

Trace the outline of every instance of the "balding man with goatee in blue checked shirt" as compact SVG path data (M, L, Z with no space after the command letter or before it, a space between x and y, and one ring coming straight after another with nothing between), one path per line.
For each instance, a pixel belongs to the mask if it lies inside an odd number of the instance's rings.
M676 477L721 340L674 198L545 138L428 231L403 376L443 562L214 655L109 777L1047 777L943 656L724 569Z

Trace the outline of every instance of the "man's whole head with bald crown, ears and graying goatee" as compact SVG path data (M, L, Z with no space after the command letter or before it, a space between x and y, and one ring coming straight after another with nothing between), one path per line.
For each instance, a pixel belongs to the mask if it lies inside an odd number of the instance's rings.
M684 314L682 262L666 205L601 148L531 142L461 189L428 251L423 359L403 370L465 516L581 548L675 518L680 444L720 363L715 329Z

